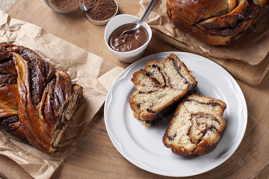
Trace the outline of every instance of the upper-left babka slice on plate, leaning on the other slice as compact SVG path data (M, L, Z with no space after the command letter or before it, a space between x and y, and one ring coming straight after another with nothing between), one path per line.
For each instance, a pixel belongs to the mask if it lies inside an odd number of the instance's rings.
M197 90L197 81L175 54L164 62L148 62L144 69L133 74L136 88L129 96L133 115L147 127L172 113L180 100Z

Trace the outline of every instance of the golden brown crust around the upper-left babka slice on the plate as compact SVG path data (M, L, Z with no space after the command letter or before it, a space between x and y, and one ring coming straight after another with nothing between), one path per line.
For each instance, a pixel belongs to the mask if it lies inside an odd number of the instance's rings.
M180 95L176 96L174 100L168 101L165 105L161 106L160 108L154 111L153 110L147 110L147 111L140 110L139 104L135 101L135 96L139 94L140 91L136 90L133 95L129 96L129 103L130 103L131 109L134 111L133 113L134 117L137 119L140 119L142 124L146 127L154 126L155 123L159 119L163 119L164 117L172 113L175 110L176 106L178 105L180 99L182 99L188 93L192 94L193 92L197 90L197 81L191 75L192 71L190 71L186 67L186 65L175 54L171 53L166 59L164 59L164 62L168 61L169 59L175 60L176 63L180 66L180 68L186 71L187 75L192 80L192 84L190 84L188 88L184 89ZM140 85L139 80L137 79L139 74L141 73L146 74L145 71L150 65L163 65L164 62L160 62L156 60L151 61L147 63L144 69L140 69L139 71L134 72L131 81L134 83L135 87L137 87L137 85ZM162 85L155 85L155 86L158 88L165 88L165 86L162 86Z

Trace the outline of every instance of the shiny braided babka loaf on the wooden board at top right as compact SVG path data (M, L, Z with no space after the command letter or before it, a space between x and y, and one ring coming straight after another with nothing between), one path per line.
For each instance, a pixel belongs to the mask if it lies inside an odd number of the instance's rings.
M211 45L228 45L240 38L269 0L167 0L171 22Z

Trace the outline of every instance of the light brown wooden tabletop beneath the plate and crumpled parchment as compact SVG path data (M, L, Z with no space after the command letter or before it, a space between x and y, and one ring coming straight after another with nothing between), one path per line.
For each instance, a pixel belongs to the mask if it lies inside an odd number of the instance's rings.
M136 15L139 11L139 0L116 1L121 14ZM49 9L43 0L18 0L7 13L12 18L36 24L116 65L130 65L115 59L108 51L104 42L105 26L90 24L80 10L61 15ZM153 37L144 56L169 51L178 50ZM258 86L238 79L236 81L245 95L248 108L247 129L240 146L228 160L215 169L184 179L269 178L269 73ZM77 141L72 155L68 155L51 178L172 178L144 171L126 160L108 137L103 113L104 106ZM0 155L0 176L8 179L31 178L17 163L3 155Z

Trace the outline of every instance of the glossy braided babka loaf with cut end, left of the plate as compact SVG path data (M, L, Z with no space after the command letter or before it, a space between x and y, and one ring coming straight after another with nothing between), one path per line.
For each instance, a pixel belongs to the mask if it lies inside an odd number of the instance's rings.
M0 43L0 126L53 153L82 98L70 76L23 46Z

